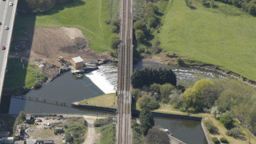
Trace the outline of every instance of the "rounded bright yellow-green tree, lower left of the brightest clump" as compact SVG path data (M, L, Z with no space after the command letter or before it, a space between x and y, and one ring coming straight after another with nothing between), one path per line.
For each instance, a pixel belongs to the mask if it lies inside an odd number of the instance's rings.
M202 110L203 101L201 98L201 93L195 90L194 88L187 89L184 92L183 106L185 108L194 108L195 112Z

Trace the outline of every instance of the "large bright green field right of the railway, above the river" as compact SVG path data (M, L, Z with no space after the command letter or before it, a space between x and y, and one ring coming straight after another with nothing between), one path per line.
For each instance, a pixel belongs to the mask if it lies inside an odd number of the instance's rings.
M256 18L232 5L215 5L194 0L190 9L185 1L170 1L157 35L161 48L256 81Z

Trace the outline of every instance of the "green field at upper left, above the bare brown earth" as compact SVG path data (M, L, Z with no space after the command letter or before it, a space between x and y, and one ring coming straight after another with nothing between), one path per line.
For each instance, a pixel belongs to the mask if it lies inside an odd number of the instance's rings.
M110 18L110 4L111 0L74 0L43 14L19 15L15 19L14 35L26 27L75 27L83 31L95 52L109 51L111 32L105 20ZM119 3L114 0L113 14L117 7Z

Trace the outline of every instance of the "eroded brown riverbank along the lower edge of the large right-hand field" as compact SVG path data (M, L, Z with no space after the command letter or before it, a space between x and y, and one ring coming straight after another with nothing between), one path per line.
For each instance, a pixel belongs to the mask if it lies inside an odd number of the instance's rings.
M233 78L241 79L244 83L256 87L256 82L249 80L248 78L245 78L241 75L238 75L234 73L233 71L225 71L222 69L219 69L218 66L210 65L207 63L199 62L199 61L189 61L185 57L181 57L183 60L183 64L179 65L177 61L178 56L177 55L166 55L164 52L161 52L159 54L155 55L146 55L146 57L143 57L142 61L154 61L158 63L162 63L164 65L171 65L171 66L177 66L177 67L186 67L186 68L199 68L204 69L208 71L213 71L215 73L219 73L222 75L231 76Z

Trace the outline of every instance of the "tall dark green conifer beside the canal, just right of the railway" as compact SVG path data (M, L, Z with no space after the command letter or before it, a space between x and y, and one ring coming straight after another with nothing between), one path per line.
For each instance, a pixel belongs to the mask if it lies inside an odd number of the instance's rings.
M140 112L140 130L143 135L147 135L148 130L155 125L153 114L148 108L143 108Z

